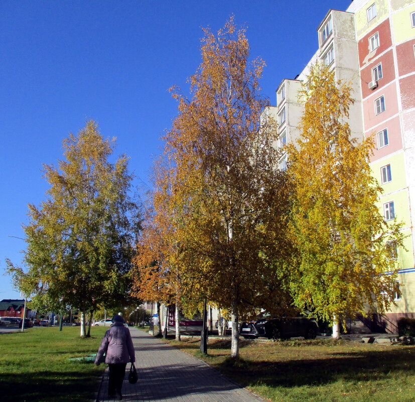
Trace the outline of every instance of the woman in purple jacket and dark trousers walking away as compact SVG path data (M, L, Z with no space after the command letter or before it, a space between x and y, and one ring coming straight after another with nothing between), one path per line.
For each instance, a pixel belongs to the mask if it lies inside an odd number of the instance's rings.
M128 362L134 363L135 353L132 345L131 335L128 328L124 327L124 320L121 316L112 317L112 326L102 338L98 353L95 358L95 364L99 366L104 353L105 363L108 364L108 396L115 397L117 393L119 399L122 399L121 387L125 375L125 367Z

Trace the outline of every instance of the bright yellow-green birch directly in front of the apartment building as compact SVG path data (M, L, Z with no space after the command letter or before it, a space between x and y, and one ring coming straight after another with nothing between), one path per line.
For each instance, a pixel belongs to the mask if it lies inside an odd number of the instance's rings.
M301 135L290 145L293 187L291 229L298 249L296 304L338 323L365 306L384 312L393 301L402 245L399 225L386 224L376 201L382 189L368 164L372 138L351 138L351 86L316 64L300 97Z

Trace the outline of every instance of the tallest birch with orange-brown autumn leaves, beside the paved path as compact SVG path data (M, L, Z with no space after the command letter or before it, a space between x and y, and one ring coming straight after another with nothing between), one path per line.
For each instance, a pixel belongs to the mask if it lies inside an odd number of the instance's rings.
M179 114L165 154L175 168L170 202L182 281L231 310L237 357L240 315L290 304L282 272L288 186L276 169L276 124L260 119L263 61L248 62L245 31L233 18L217 35L204 34L191 98L174 90Z

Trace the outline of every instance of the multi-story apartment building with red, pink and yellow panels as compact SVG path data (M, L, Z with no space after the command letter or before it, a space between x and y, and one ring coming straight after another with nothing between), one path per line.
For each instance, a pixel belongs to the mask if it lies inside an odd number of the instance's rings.
M402 222L407 235L406 250L396 250L401 285L396 306L377 317L393 332L400 316L415 317L415 2L354 0L345 12L329 10L317 32L319 48L312 60L295 80L281 82L276 106L267 111L279 122L281 147L299 135L303 106L297 93L312 63L330 65L337 79L352 83L352 136L375 135L370 164L383 188L379 209L385 220Z

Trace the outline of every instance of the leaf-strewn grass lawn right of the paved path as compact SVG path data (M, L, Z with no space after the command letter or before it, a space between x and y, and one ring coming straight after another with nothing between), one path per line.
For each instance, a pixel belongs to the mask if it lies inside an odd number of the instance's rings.
M197 339L170 342L272 402L415 401L415 346L241 340L234 362L228 340L211 338L206 357Z

